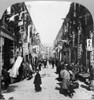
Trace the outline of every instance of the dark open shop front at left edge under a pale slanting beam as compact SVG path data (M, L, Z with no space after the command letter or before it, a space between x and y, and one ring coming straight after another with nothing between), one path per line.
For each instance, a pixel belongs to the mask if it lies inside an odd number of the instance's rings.
M10 69L14 62L14 37L1 28L0 32L0 63L1 68Z

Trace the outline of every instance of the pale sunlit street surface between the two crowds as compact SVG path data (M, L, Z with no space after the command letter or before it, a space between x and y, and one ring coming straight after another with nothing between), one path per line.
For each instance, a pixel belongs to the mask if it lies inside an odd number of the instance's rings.
M48 65L47 68L42 68L40 74L42 77L42 91L34 91L34 77L31 80L25 79L19 83L11 84L6 92L3 93L6 100L13 98L14 100L52 100L52 99L71 99L65 97L63 94L59 93L59 81L56 80L58 77L55 73L56 69L52 69L51 65ZM81 87L85 86L82 82L79 82L79 89L75 89L74 96L72 99L92 99L94 93L92 91L86 90L86 88ZM93 98L94 99L94 98Z

